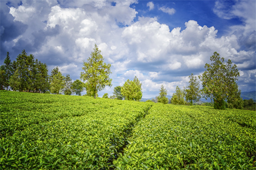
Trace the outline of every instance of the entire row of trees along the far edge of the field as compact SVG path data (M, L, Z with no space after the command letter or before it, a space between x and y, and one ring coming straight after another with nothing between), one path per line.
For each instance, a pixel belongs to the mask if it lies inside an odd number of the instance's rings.
M217 52L214 52L210 57L210 64L206 63L206 70L199 79L202 81L202 89L199 88L197 77L191 74L190 81L187 87L181 89L176 87L176 92L170 99L166 97L167 90L161 86L159 96L153 101L173 104L186 104L193 101L198 101L201 97L210 98L213 101L213 106L216 109L225 108L243 108L244 101L240 97L241 91L238 90L236 80L238 80L239 72L237 66L232 65L229 59L224 63L224 58L220 57ZM0 78L1 89L10 86L13 90L28 91L28 92L43 92L70 95L76 93L81 95L85 89L86 95L98 96L98 91L104 89L105 86L111 86L112 79L109 77L111 64L104 63L104 58L101 55L101 50L97 45L94 45L91 57L88 57L87 62L84 61L80 73L80 79L72 82L69 74L62 75L58 67L51 71L48 75L47 64L35 60L34 55L27 55L23 50L16 58L16 61L11 62L9 52L1 65ZM105 93L103 97L108 98ZM133 80L127 79L122 86L114 87L113 99L126 99L140 101L142 98L142 83L135 76ZM246 105L246 102L245 102Z

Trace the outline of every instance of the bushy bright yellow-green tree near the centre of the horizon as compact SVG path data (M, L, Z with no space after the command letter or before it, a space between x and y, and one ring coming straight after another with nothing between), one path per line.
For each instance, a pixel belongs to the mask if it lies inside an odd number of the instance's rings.
M142 98L142 83L137 78L134 77L133 81L127 79L123 86L121 87L121 94L125 96L126 100L140 101Z

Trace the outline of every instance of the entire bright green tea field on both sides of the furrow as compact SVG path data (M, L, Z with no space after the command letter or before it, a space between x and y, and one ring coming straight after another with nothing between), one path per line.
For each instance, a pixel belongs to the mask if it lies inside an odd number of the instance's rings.
M0 169L256 169L256 112L0 91Z

